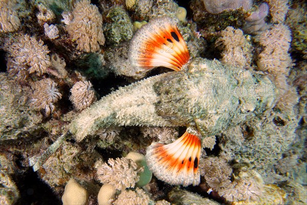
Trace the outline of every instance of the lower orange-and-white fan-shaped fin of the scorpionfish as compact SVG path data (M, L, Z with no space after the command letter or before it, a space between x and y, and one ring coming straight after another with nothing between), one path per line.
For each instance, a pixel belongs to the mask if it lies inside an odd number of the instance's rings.
M170 185L196 186L200 183L201 149L201 140L188 128L169 145L153 142L145 157L149 169L158 179Z

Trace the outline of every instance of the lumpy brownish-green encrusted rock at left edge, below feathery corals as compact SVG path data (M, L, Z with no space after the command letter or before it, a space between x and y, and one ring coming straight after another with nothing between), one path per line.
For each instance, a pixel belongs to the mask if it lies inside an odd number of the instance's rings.
M29 107L31 89L0 73L0 141L39 135L42 116Z

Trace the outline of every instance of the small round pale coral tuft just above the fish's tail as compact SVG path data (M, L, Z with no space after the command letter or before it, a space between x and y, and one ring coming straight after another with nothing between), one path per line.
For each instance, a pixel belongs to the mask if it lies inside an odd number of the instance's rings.
M71 89L70 100L77 110L83 110L96 100L95 91L90 81L78 81Z

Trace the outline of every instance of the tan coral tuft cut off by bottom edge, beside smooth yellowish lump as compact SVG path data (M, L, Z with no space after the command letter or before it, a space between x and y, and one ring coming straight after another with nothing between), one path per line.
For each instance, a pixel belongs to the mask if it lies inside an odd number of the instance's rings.
M148 205L150 201L149 196L140 188L133 190L124 190L114 201L114 205Z

